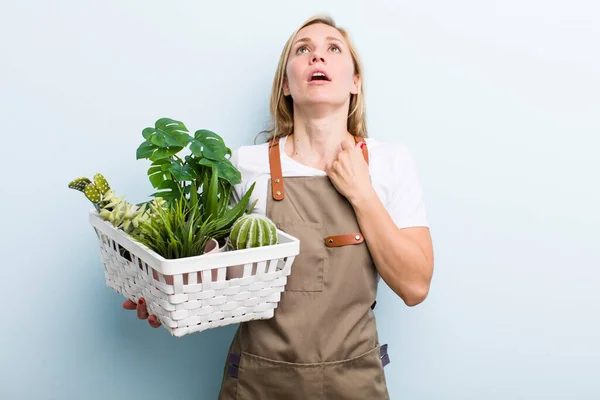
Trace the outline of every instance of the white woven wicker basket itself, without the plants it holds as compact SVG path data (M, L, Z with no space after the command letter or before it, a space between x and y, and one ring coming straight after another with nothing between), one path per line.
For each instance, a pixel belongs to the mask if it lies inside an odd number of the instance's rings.
M89 220L98 235L106 284L132 301L143 297L148 313L176 337L273 317L300 251L297 238L277 230L279 243L273 246L168 260L95 210Z

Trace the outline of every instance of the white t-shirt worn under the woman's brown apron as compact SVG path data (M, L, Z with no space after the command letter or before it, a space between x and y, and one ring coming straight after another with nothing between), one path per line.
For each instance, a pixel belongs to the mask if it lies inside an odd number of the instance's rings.
M290 158L285 151L285 140L280 139L283 177L326 176L325 171L308 167ZM428 226L421 194L421 185L414 160L403 144L380 142L366 138L369 149L369 173L375 192L399 228ZM268 181L270 176L268 143L241 146L234 150L231 162L241 172L242 182L233 187L233 202L237 203L256 182L250 204L258 199L254 213L266 214Z

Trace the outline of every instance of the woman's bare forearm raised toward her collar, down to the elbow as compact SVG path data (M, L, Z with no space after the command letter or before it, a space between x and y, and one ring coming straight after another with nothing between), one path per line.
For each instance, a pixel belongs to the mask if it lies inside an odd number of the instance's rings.
M351 204L381 278L407 305L422 302L429 292L433 260L415 232L396 226L374 190Z

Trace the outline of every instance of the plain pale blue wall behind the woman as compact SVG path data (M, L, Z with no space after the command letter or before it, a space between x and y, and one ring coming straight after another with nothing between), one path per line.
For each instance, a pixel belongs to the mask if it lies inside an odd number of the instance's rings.
M571 1L37 1L0 13L0 398L215 399L236 326L183 338L121 309L67 188L131 202L161 117L235 148L268 120L311 15L350 30L370 135L414 154L430 295L382 282L392 399L600 398L600 5Z

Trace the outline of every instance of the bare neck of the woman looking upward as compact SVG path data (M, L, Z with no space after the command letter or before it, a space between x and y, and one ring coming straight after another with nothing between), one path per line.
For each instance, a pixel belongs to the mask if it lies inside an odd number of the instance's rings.
M285 143L285 152L301 164L325 170L341 150L341 142L354 138L347 129L347 112L309 115L296 111L294 133Z

